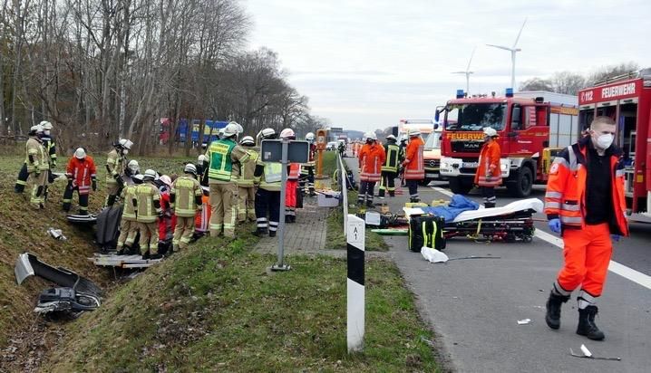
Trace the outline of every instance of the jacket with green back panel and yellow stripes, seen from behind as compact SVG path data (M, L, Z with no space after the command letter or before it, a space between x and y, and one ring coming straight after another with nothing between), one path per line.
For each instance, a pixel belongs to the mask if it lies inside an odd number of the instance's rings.
M248 152L233 139L219 139L210 143L206 157L209 159L209 183L237 181L239 166L248 161Z

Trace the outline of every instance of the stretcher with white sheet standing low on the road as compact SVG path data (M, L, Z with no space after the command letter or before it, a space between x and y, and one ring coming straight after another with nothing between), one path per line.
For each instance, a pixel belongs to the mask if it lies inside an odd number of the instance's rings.
M543 203L538 198L523 199L507 206L464 211L452 222L445 222L446 239L465 236L474 240L529 243L535 227L533 214L542 213ZM420 207L404 207L404 214L423 215Z

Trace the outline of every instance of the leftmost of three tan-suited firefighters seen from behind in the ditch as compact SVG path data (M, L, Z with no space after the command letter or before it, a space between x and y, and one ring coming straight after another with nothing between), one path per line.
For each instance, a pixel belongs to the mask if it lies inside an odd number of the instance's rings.
M132 162L132 161L131 161ZM130 162L130 164L131 164ZM138 234L137 219L137 197L136 188L142 182L142 175L136 174L131 177L133 184L124 186L121 192L121 199L124 201L122 206L122 215L120 219L120 236L118 237L117 251L118 255L135 254L133 244Z

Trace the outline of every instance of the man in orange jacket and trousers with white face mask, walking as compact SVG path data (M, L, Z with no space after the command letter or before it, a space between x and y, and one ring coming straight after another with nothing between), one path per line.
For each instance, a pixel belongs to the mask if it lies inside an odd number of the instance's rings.
M545 214L563 237L565 262L549 293L545 320L560 327L560 306L578 293L577 334L603 340L595 305L606 282L613 241L628 235L622 150L612 145L617 126L597 117L589 135L564 149L549 169Z

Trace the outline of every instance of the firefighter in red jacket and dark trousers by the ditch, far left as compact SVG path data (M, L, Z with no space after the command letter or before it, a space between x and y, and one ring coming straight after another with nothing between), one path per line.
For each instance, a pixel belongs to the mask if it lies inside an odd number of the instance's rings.
M79 215L88 215L88 198L91 188L97 190L97 169L91 156L86 154L84 148L74 150L74 155L65 167L65 177L68 186L63 192L63 211L70 211L73 202L73 193L76 190L79 196Z

